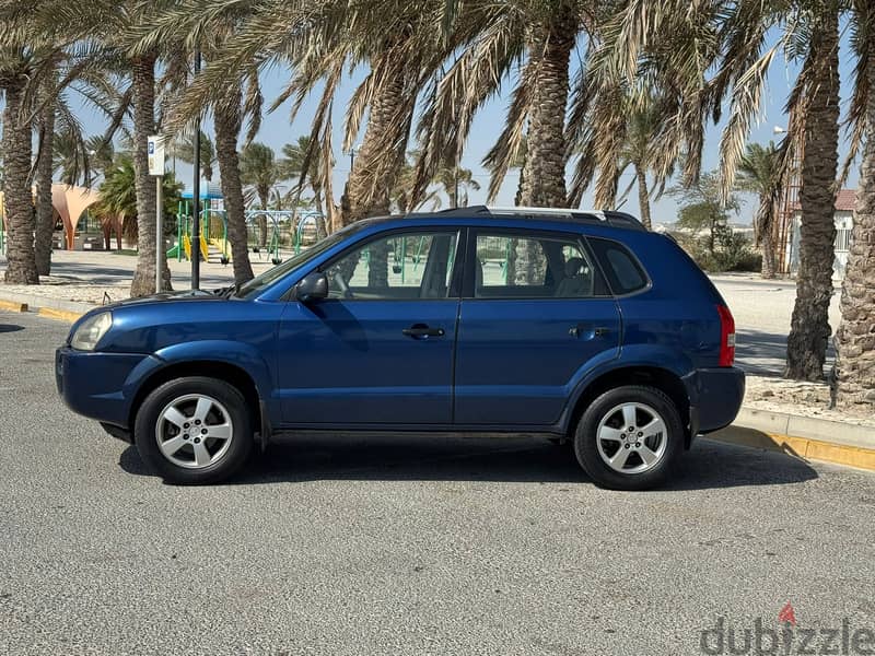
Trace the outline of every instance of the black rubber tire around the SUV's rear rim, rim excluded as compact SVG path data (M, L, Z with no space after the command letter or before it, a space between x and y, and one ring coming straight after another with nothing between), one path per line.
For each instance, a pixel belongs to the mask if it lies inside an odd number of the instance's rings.
M620 473L611 469L598 454L596 434L605 413L621 403L639 402L653 408L667 429L666 450L653 469L641 473ZM684 425L677 407L668 396L654 387L629 385L598 396L584 411L574 434L574 454L593 481L611 490L648 490L668 478L684 450Z

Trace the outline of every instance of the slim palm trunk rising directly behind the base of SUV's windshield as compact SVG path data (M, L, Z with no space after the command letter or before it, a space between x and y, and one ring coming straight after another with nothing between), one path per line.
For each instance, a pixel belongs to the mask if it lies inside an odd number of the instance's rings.
M219 179L222 184L225 211L228 212L228 238L231 242L231 260L234 267L234 282L243 284L252 280L253 267L249 263L249 248L246 238L246 214L243 202L243 184L240 181L240 157L237 139L241 130L240 86L230 90L224 103L218 103L214 110L215 157L219 161Z

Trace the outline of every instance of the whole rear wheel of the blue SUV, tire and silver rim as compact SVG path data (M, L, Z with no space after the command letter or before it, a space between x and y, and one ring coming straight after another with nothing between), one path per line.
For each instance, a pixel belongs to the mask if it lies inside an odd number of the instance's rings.
M625 425L629 423L633 425ZM680 413L654 387L629 385L604 393L586 408L574 434L581 467L596 485L610 490L658 485L682 450Z

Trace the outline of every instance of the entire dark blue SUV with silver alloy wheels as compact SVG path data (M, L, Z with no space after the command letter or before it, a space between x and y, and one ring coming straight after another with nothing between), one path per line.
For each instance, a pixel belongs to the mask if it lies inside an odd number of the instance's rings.
M735 419L734 352L718 291L634 218L465 208L361 221L242 286L94 309L56 377L178 483L225 479L281 432L534 433L633 490Z

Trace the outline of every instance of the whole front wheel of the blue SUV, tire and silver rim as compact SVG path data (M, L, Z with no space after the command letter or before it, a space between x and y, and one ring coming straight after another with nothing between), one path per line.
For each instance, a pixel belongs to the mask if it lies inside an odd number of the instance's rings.
M215 483L236 473L249 457L252 420L246 399L224 380L177 378L145 398L133 440L140 457L164 480Z

